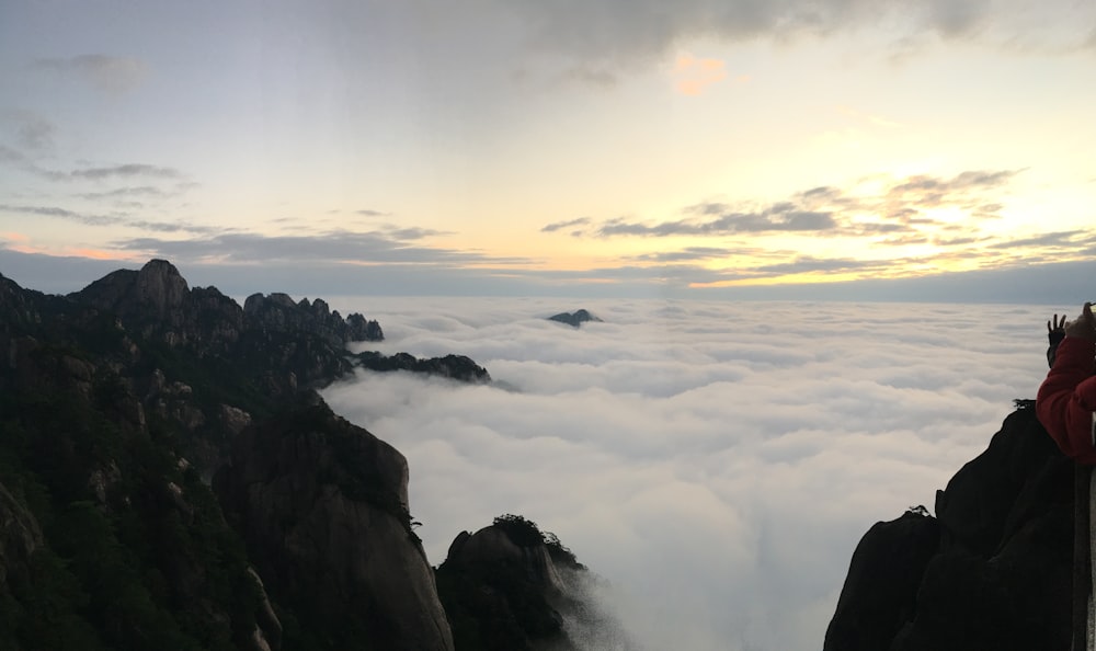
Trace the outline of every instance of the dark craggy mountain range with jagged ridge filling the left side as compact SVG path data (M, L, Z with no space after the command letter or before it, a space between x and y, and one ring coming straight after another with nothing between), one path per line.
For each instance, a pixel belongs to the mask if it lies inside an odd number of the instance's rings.
M162 260L68 296L0 276L0 649L498 648L454 646L407 459L315 390L358 367L490 376L346 350L383 336Z

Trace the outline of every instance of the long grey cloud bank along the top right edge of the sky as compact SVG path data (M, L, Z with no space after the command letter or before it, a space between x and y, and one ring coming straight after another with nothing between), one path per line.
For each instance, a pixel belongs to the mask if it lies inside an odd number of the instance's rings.
M532 25L533 47L587 65L627 67L658 59L692 39L788 42L857 31L881 33L897 55L938 39L1047 52L1091 47L1096 12L1070 0L683 0L658 2L498 2Z

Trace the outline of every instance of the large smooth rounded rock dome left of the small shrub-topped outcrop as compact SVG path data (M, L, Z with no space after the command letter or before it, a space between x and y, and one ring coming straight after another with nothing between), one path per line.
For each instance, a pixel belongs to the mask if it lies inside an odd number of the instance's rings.
M453 649L407 482L402 455L313 396L244 430L215 487L267 584L334 648Z

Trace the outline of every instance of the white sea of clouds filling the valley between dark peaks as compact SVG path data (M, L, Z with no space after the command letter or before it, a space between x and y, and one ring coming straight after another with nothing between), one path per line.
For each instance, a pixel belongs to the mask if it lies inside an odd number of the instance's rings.
M504 513L556 533L652 651L817 651L877 521L924 504L1046 375L1041 306L345 298L493 384L323 391L399 448L432 564ZM580 329L546 320L586 308Z

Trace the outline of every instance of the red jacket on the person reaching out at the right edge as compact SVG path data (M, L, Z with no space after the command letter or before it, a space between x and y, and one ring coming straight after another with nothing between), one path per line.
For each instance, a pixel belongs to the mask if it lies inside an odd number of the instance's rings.
M1063 453L1081 464L1096 465L1093 412L1096 411L1096 345L1066 336L1054 366L1039 387L1036 413Z

